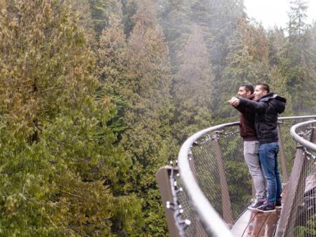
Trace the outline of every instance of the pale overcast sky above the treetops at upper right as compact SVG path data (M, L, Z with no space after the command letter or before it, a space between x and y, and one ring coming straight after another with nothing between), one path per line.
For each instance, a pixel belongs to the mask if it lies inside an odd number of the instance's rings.
M289 21L287 12L290 10L290 0L244 0L249 18L262 22L264 28L274 25L286 27ZM308 0L306 0L308 1ZM316 20L316 0L308 1L308 23Z

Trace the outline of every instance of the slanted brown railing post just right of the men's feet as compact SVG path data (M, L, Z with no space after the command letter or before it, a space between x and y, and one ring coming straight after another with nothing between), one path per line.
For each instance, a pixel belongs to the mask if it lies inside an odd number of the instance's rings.
M303 146L297 146L291 177L286 185L286 197L280 215L280 221L275 232L275 237L293 236L293 227L297 216L297 207L304 200L306 181L306 155Z

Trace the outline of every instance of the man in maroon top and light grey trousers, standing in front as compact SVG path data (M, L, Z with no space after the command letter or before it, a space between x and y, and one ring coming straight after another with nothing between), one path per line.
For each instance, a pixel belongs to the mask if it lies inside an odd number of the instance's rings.
M253 85L242 84L238 89L238 95L242 98L253 100ZM256 210L266 200L266 186L259 161L259 142L254 125L255 113L251 109L240 109L240 136L244 140L244 156L249 172L256 189L256 201L248 209Z

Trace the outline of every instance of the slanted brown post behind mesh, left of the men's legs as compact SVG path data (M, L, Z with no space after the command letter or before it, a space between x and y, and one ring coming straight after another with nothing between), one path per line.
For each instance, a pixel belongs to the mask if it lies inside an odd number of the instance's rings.
M228 185L227 185L225 168L223 164L221 146L219 145L218 138L214 139L214 150L215 150L215 156L216 156L216 164L218 167L219 181L221 185L223 219L227 224L232 225L233 223L232 207L231 207L231 202L229 198L229 190L228 190Z

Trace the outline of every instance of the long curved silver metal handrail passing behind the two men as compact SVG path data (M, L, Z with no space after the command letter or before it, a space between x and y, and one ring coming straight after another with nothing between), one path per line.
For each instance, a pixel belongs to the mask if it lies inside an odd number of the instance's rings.
M308 118L316 118L316 115L279 117L279 120L295 120L295 119L308 119ZM310 121L308 122L311 123ZM210 128L206 128L202 131L199 131L198 133L195 133L194 135L189 137L183 143L179 151L178 166L179 166L180 178L181 178L181 181L183 182L183 188L185 190L185 193L188 195L188 199L190 203L192 204L192 206L194 206L194 210L198 214L201 224L203 225L203 228L205 230L205 233L208 236L233 237L232 232L230 232L229 228L227 227L227 224L222 220L221 216L218 215L216 210L214 210L212 205L209 203L209 201L203 194L201 188L199 188L199 185L196 183L196 180L194 179L194 175L190 168L188 154L190 153L192 144L203 135L221 130L226 127L237 126L239 124L240 124L239 122L232 122L232 123L227 123L227 124L221 124L218 126L212 126ZM292 129L291 129L291 134L292 134ZM300 138L297 138L297 137L295 138L300 140ZM300 140L300 142L302 141ZM309 145L311 146L311 144ZM194 200L199 200L199 201L194 201Z

